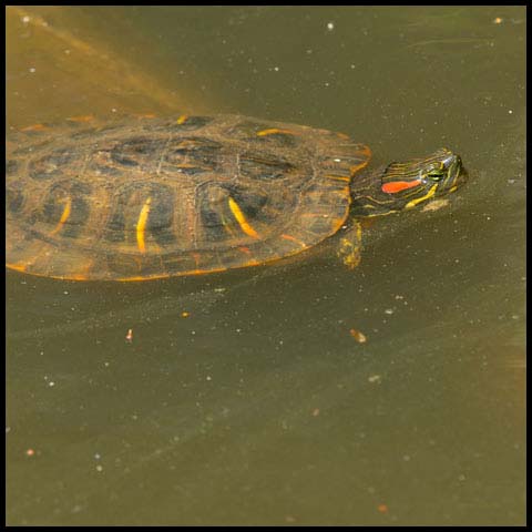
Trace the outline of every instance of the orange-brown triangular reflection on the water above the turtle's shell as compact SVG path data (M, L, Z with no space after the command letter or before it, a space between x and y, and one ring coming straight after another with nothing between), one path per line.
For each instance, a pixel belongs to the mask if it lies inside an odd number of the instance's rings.
M155 65L108 40L102 28L140 45L123 18L81 8L10 7L7 10L8 117L10 125L112 113L201 110L197 93L167 89ZM102 14L105 17L102 19ZM38 88L38 90L35 90ZM196 111L197 112L197 111Z

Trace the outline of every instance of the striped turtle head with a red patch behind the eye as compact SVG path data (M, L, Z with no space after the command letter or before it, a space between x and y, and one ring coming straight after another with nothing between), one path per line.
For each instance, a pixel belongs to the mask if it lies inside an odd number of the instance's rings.
M369 186L355 185L354 214L377 216L424 205L454 192L466 178L460 156L444 147L424 158L393 162L374 172Z

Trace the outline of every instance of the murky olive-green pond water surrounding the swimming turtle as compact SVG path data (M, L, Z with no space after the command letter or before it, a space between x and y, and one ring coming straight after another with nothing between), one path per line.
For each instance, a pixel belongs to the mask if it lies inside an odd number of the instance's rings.
M524 8L7 21L13 127L231 112L470 173L365 227L352 272L327 246L150 283L8 272L9 524L525 522Z

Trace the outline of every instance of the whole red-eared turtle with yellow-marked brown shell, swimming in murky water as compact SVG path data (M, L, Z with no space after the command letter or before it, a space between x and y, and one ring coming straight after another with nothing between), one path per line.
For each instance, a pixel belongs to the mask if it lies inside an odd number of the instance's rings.
M7 266L72 280L147 280L263 265L365 217L454 192L448 149L372 172L344 133L241 115L73 117L8 134Z

